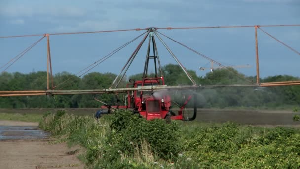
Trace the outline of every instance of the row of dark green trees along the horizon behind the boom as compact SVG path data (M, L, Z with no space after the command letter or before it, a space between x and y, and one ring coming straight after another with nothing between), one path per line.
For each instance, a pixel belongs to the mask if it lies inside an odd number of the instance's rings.
M197 76L193 70L188 73L197 84L201 85L228 85L245 84L256 81L255 76L245 76L233 68L216 69L208 72L205 76ZM162 68L167 85L188 85L192 84L185 73L178 65L168 64ZM113 73L88 73L83 77L75 76L68 72L61 72L54 75L55 89L107 89L117 75ZM122 81L125 86L128 79L139 80L142 73L129 76ZM270 76L260 79L260 82L276 82L298 80L299 77L288 75ZM47 72L31 72L23 74L19 72L0 74L0 90L46 90ZM176 102L180 102L178 92L171 95ZM263 107L282 108L285 106L300 105L300 86L280 87L241 87L241 88L213 88L197 91L199 108L225 108L225 107ZM0 97L0 108L95 108L101 104L94 100L94 97L113 104L117 99L122 100L124 95L116 98L113 94L89 94L89 95L54 95L54 96L18 96Z

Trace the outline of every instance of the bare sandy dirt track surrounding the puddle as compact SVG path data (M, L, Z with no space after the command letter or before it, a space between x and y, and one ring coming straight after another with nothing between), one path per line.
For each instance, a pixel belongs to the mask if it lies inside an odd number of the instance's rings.
M37 123L0 121L4 128L33 125L38 127ZM78 153L74 154L78 150L80 147L53 144L53 140L47 138L0 139L0 169L83 169L84 165L77 159Z

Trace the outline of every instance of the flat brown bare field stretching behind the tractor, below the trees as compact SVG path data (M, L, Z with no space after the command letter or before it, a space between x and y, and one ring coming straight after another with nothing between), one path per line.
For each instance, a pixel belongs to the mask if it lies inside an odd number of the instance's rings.
M55 112L58 109L0 109L5 113L45 113ZM97 110L90 109L66 109L68 113L77 115L93 115ZM188 109L191 114L192 109ZM174 110L176 112L176 110ZM292 110L226 110L226 109L198 109L196 121L200 122L237 122L249 125L300 125L294 122Z

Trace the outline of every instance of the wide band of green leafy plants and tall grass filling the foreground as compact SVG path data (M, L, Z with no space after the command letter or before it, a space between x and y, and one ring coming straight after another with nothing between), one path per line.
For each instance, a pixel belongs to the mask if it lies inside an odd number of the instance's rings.
M89 168L300 168L300 130L234 123L146 121L117 111L99 121L58 111L40 127L86 148Z

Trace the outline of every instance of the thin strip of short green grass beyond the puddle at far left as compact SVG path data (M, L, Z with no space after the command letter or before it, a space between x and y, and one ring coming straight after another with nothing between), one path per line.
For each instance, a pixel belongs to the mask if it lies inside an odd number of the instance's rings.
M0 120L15 120L23 122L40 122L41 114L26 114L26 113L0 113Z

